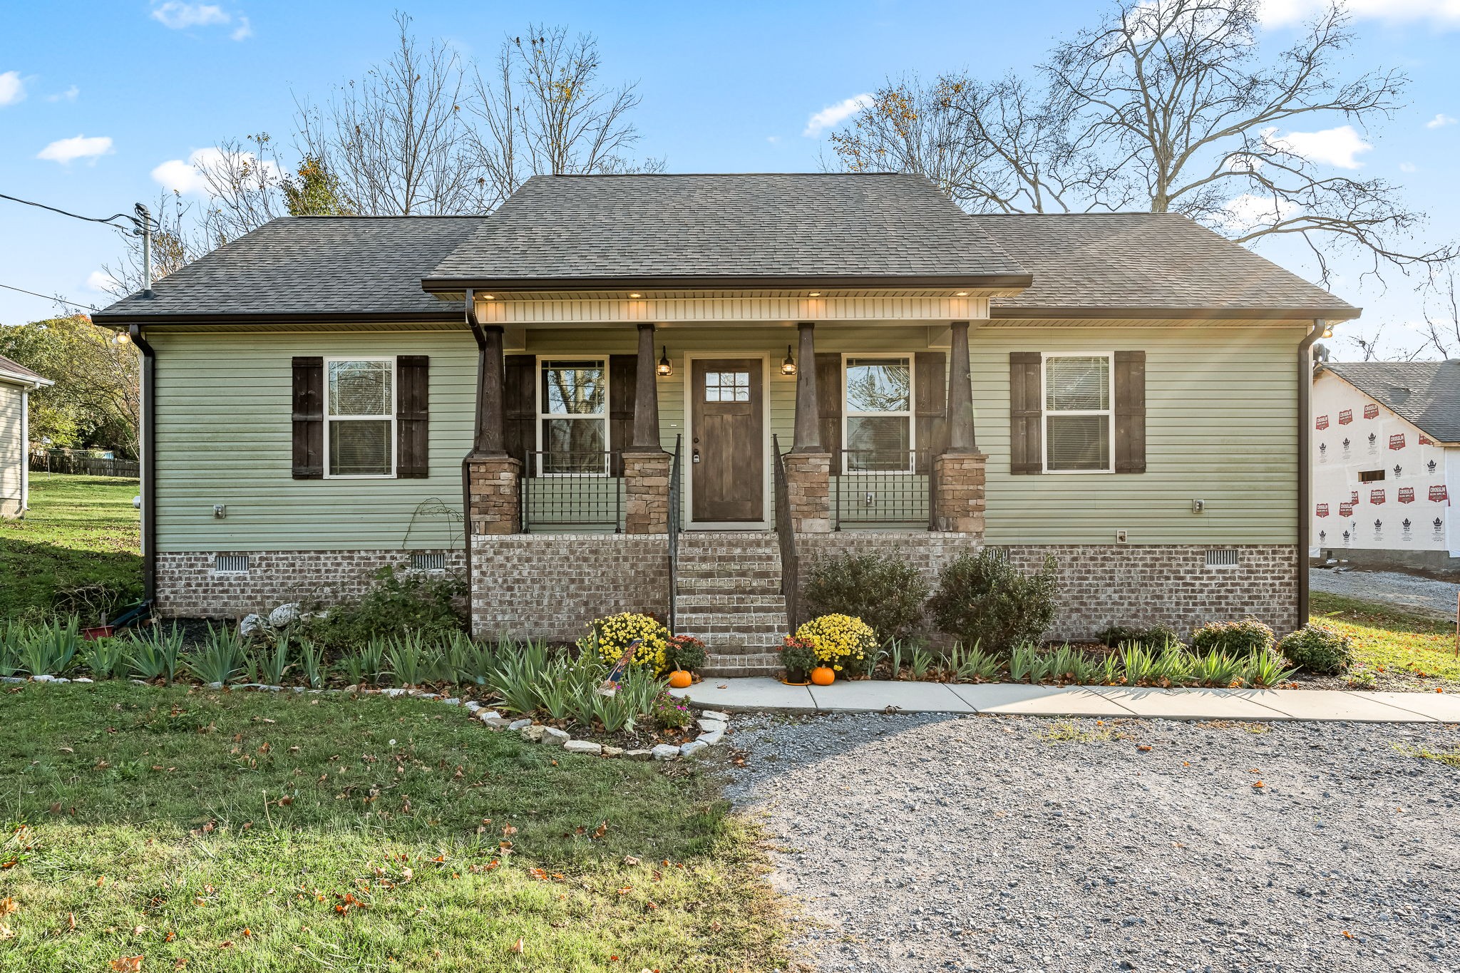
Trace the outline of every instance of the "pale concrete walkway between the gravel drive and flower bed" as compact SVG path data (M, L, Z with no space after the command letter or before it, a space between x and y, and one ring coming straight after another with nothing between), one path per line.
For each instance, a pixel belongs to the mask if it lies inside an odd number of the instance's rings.
M1365 724L1460 722L1460 693L1362 693L1270 689L1126 689L1022 683L838 681L785 686L774 678L708 678L688 690L696 706L721 710L1000 713L1140 716L1148 719L1314 719Z

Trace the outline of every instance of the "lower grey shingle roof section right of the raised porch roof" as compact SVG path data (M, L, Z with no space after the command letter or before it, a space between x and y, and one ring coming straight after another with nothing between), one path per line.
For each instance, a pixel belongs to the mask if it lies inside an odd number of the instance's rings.
M1145 317L1167 309L1209 309L1212 317L1311 311L1333 319L1359 314L1177 213L1000 213L972 220L1034 273L1023 293L993 299L994 317L1047 317L1061 308Z

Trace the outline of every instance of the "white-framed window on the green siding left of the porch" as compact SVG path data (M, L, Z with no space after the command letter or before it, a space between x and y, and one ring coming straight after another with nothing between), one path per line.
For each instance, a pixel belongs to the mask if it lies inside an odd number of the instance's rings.
M327 359L324 451L331 477L396 474L396 360Z

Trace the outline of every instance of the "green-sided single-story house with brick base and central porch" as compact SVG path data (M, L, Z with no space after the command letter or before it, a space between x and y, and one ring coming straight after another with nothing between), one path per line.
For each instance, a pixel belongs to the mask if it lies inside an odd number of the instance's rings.
M1308 349L1356 315L1181 216L813 174L280 219L95 319L145 354L165 614L466 567L477 633L656 611L731 672L842 551L1050 554L1054 636L1295 627Z

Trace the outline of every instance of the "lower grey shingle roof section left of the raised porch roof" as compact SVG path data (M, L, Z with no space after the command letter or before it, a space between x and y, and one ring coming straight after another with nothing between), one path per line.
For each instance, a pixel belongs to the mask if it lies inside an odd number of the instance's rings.
M270 220L124 298L98 324L199 315L460 318L420 276L482 223L463 216L305 216Z

